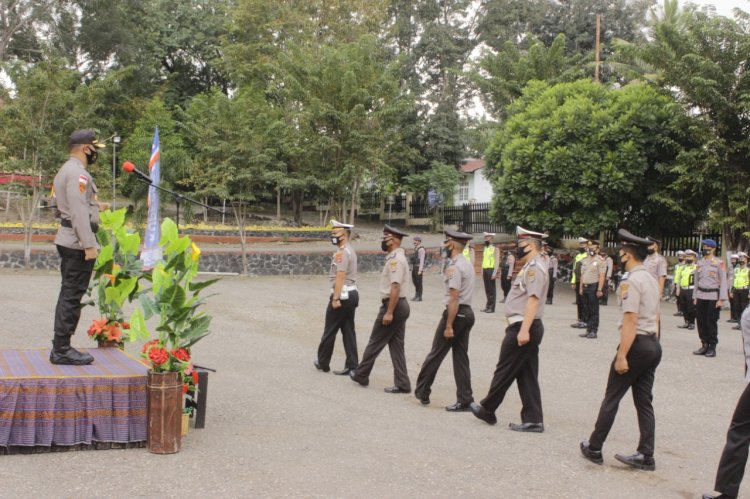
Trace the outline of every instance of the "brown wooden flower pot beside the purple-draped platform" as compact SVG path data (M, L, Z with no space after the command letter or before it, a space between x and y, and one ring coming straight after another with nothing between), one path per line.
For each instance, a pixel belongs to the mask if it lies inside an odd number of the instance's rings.
M174 454L182 444L182 383L179 373L148 373L147 447L154 454Z

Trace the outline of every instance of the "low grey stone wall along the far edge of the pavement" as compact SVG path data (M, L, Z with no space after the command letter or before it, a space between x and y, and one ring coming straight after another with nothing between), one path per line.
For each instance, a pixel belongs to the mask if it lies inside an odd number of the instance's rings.
M277 253L252 252L247 254L249 275L327 275L331 266L331 253ZM385 254L380 252L357 253L358 270L361 273L380 272ZM426 267L438 268L439 262L427 255ZM0 268L22 269L23 250L0 248ZM60 259L54 250L31 252L31 268L58 270ZM200 270L203 272L242 273L242 253L204 252Z

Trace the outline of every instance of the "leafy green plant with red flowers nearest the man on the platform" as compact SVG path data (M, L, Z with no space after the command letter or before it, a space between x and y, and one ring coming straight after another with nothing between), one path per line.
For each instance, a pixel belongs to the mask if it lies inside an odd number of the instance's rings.
M101 224L97 239L101 251L94 266L94 278L89 296L94 298L101 318L94 320L88 335L99 347L117 346L138 338L136 331L124 320L123 305L134 300L143 276L143 263L138 258L141 238L125 227L126 209L100 214Z

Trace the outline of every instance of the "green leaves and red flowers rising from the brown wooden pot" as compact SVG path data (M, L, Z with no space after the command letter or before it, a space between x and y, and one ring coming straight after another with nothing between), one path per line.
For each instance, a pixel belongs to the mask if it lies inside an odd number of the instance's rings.
M140 307L130 317L132 330L151 337L146 320L158 317L158 338L143 345L141 355L154 372L179 372L183 391L194 390L197 373L193 370L190 348L209 334L212 317L199 308L204 303L200 292L218 279L194 282L198 274L200 249L189 237L180 237L177 225L169 218L161 225L159 245L164 261L150 274L152 287L139 297Z

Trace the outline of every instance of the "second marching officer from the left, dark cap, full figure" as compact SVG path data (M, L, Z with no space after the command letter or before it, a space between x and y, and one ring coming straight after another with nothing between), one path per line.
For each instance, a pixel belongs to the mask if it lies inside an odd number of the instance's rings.
M404 336L406 319L409 318L409 303L406 301L406 285L409 278L409 263L406 261L401 240L408 234L389 225L383 228L380 247L388 255L380 274L380 312L372 326L370 341L362 354L357 369L349 376L362 386L370 383L370 372L380 352L388 345L393 363L394 386L385 388L386 393L410 393L411 381L406 370Z

